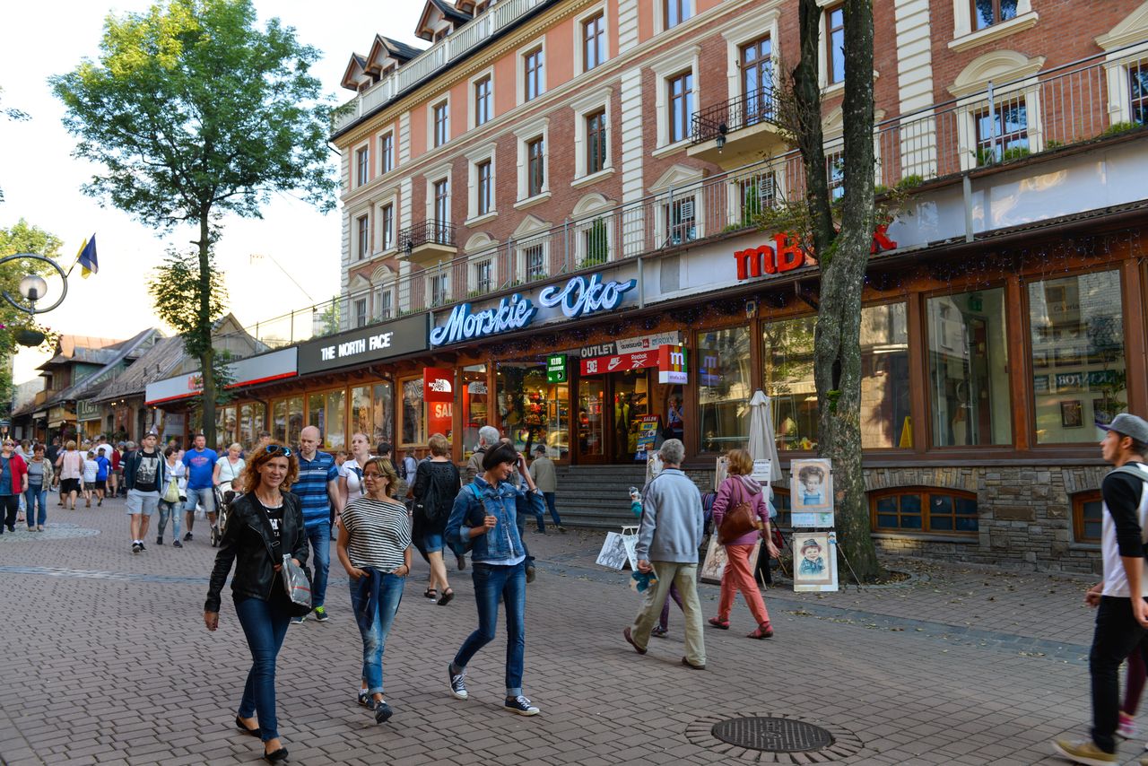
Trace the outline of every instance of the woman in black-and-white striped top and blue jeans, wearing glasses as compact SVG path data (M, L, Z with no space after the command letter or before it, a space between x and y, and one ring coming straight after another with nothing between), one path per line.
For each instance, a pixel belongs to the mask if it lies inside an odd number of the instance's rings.
M370 458L363 466L363 485L366 494L343 509L338 547L363 635L358 701L382 724L391 715L382 696L382 649L411 571L411 518L406 506L391 497L398 475L390 461Z

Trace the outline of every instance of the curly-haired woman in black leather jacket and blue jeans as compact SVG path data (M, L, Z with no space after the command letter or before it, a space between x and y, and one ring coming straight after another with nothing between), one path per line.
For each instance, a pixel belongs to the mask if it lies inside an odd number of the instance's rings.
M243 486L255 489L232 501L203 605L203 622L208 630L215 630L219 626L219 594L234 563L232 598L254 660L235 726L262 738L263 757L272 763L287 757L276 721L276 657L292 618L280 577L282 557L290 554L305 568L308 552L300 500L284 489L297 475L298 459L282 444L270 443L248 461Z

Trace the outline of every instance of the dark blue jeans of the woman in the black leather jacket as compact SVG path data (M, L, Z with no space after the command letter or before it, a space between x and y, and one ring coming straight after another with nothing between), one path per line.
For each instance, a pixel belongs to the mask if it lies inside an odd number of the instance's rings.
M287 596L279 588L271 601L235 601L235 613L239 616L239 624L243 626L254 660L247 673L243 699L239 703L239 717L258 715L264 742L279 737L279 721L276 719L276 657L279 656L287 626L290 625Z

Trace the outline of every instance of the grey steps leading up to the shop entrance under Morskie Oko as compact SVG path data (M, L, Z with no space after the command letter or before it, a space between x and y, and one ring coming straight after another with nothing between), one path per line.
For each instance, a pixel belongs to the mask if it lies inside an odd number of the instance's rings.
M645 465L559 465L554 504L569 527L610 529L637 524L630 487L645 483Z

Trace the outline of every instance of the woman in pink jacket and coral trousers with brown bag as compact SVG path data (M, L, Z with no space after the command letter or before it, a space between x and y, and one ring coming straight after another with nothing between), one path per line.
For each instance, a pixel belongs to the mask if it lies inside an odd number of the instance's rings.
M769 534L769 505L766 503L761 485L750 478L753 472L753 458L750 452L744 449L731 449L726 459L728 475L718 488L718 497L714 500L714 534L721 535L721 525L726 516L742 503L748 504L759 526L723 543L727 562L721 575L721 597L718 601L718 617L709 618L709 625L722 630L729 629L729 613L734 609L734 598L740 590L753 619L758 621L758 629L748 634L748 637L768 639L774 635L774 628L769 625L769 612L766 611L766 602L758 590L758 581L753 579L750 556L753 555L759 539L766 541L766 550L770 557L777 556L777 548ZM721 535L719 540L724 536Z

